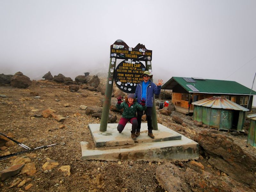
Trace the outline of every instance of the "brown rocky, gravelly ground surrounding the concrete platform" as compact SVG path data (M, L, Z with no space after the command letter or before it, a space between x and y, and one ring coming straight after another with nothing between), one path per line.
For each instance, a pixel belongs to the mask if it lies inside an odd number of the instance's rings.
M40 96L36 99L35 96ZM35 148L61 143L0 161L0 170L25 163L22 170L3 181L1 191L255 191L256 149L247 135L194 125L191 117L157 111L159 123L200 144L200 158L188 162L107 162L81 160L80 141L92 142L88 124L100 119L86 115L80 105L101 106L100 92L37 81L26 89L0 87L1 132ZM41 116L45 109L65 121ZM117 122L120 113L115 112ZM180 118L183 125L173 117ZM6 146L7 145L7 146ZM8 141L0 155L22 151ZM64 165L69 166L62 167ZM70 175L69 175L70 174ZM21 182L20 182L21 181ZM163 187L163 188L162 188Z

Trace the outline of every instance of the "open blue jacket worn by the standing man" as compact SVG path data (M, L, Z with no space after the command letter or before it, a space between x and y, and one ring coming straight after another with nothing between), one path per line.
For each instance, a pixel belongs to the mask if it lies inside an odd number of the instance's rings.
M143 81L141 81L137 87L136 87L136 91L134 93L134 97L137 98L138 103L140 103L141 101L141 95L142 95L142 83ZM146 98L146 105L147 107L153 107L153 98L154 98L154 94L155 95L159 95L161 91L161 86L156 86L156 84L154 84L152 81L149 80L149 84L147 86L147 98Z

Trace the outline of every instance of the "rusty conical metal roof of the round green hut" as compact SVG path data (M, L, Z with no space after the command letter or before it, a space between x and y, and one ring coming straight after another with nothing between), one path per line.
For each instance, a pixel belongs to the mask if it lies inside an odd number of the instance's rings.
M203 100L195 101L192 103L193 105L217 108L217 109L231 109L231 110L239 110L239 111L249 111L249 109L242 107L234 103L231 100L228 100L224 97L210 97Z

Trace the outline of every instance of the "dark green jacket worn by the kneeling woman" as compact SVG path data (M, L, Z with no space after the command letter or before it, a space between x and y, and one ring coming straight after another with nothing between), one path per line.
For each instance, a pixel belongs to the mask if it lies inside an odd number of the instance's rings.
M132 117L136 117L137 109L139 109L140 111L144 111L146 110L147 106L142 106L138 102L135 102L131 105L131 107L129 107L128 104L124 101L121 104L116 103L116 108L118 110L124 108L122 117L131 119Z

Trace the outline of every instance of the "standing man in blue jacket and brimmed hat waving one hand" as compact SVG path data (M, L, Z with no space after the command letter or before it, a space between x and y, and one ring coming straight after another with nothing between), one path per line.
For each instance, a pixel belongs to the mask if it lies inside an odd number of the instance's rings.
M159 95L161 91L161 86L163 84L163 80L158 80L157 84L154 84L150 78L153 75L150 75L149 71L144 71L142 74L143 81L141 81L137 87L134 96L137 98L137 102L140 103L142 99L146 99L147 109L145 110L147 121L148 121L148 136L152 139L155 136L152 133L152 107L153 107L153 99L154 94ZM139 137L140 135L140 125L141 125L141 117L143 115L143 111L137 110L137 119L138 119L138 127L136 129L135 136Z

